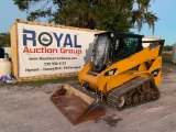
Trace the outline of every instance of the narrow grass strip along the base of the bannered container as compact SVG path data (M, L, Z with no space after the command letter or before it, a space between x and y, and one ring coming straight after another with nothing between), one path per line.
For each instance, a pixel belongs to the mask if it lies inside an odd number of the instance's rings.
M67 81L75 81L78 76L72 76L72 77L57 77L54 79L45 79L45 80L33 80L33 81L22 81L16 84L3 84L3 86L32 86L32 87L41 87L45 84L57 84L57 82L67 82Z

